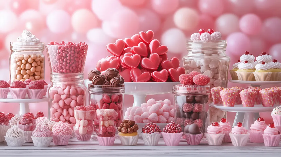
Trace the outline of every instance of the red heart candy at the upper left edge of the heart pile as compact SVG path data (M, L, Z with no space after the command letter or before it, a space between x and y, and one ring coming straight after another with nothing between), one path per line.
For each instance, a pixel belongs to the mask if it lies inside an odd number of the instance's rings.
M106 50L116 57L120 57L124 51L125 42L122 39L118 39L115 43L109 43L106 45Z

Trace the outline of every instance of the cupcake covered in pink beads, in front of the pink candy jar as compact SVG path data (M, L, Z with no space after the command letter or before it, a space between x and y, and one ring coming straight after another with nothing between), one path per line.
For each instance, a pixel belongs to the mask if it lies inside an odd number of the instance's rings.
M69 124L59 121L53 126L52 132L54 144L58 146L66 146L73 131Z

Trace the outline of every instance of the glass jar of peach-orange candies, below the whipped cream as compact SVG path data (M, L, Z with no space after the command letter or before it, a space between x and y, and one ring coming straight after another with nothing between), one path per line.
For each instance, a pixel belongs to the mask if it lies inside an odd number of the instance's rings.
M44 79L44 42L10 43L10 80Z

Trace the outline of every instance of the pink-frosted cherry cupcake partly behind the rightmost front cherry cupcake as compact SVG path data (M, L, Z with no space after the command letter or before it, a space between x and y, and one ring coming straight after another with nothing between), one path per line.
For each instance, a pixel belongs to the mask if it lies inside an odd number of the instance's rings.
M252 124L250 126L250 130L249 133L250 133L250 141L252 143L263 143L264 140L263 140L263 137L262 137L262 134L266 128L266 123L264 121L263 118L258 118L254 124Z

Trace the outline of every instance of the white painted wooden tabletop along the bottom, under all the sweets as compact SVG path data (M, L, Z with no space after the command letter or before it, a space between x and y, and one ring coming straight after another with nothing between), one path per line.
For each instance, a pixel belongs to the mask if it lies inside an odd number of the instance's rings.
M279 147L266 147L264 144L255 144L248 141L247 146L236 147L231 143L221 146L209 146L205 139L197 146L188 145L181 140L180 146L165 146L161 137L158 146L144 146L142 137L139 137L137 146L122 146L119 139L115 139L114 146L99 146L98 139L92 137L90 141L78 141L71 137L67 146L34 147L33 143L24 143L22 147L10 147L6 142L0 142L0 156L281 156Z

